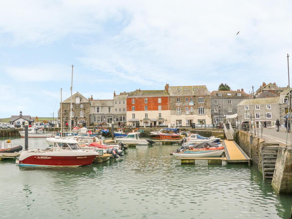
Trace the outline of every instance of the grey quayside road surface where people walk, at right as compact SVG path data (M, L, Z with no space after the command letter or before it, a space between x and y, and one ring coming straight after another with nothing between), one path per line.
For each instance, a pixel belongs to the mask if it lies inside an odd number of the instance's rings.
M258 132L256 131L256 134ZM287 144L291 143L292 133L288 133ZM259 137L261 134L259 133ZM265 143L284 143L286 144L286 128L280 128L280 131L277 132L276 128L263 128L263 139Z

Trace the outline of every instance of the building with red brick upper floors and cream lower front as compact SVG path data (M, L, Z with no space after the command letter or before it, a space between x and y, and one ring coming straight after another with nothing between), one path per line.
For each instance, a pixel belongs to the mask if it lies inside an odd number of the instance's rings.
M168 126L169 94L165 90L136 90L127 96L127 124L137 126Z

